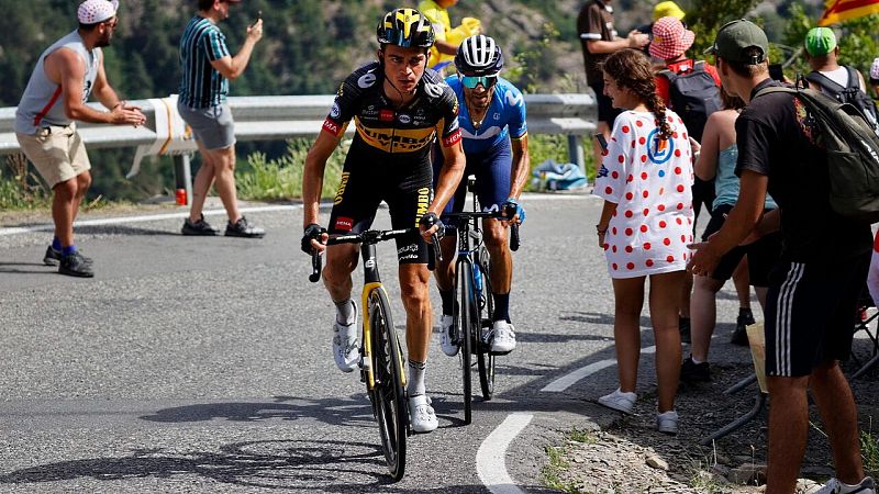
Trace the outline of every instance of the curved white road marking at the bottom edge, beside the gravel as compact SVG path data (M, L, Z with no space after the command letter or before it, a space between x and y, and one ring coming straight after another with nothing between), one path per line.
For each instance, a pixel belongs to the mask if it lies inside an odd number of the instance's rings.
M510 414L476 452L476 472L479 480L493 494L524 494L507 472L507 448L534 418L533 414Z

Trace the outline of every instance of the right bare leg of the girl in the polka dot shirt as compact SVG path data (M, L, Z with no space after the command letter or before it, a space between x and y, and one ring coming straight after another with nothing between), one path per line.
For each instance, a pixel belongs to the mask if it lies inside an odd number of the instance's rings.
M656 382L659 413L675 409L680 379L678 306L686 271L650 274L650 323L656 340Z

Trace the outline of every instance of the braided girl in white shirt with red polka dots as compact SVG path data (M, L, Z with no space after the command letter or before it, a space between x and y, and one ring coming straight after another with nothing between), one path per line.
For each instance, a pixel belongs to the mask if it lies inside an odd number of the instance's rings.
M656 96L650 64L624 49L604 61L604 92L626 109L614 123L596 178L604 199L597 225L613 280L620 389L599 403L630 413L641 350L644 282L650 279L650 322L656 340L657 429L676 434L681 348L678 308L692 237L692 156L683 121Z

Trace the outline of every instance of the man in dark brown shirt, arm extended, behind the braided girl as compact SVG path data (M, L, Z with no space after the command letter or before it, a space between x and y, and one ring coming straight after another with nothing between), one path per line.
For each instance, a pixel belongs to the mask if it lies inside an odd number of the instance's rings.
M611 0L588 0L577 15L577 33L583 50L586 82L596 93L598 103L598 132L610 138L613 121L620 111L611 104L604 94L604 82L599 64L608 55L624 48L643 48L649 43L647 34L632 31L627 37L621 38L613 27L613 8ZM601 162L601 149L594 146L596 162Z

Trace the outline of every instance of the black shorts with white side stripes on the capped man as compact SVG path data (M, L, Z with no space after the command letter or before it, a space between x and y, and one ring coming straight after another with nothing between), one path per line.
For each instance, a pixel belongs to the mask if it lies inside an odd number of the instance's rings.
M766 374L801 378L852 352L855 313L870 255L847 262L781 261L766 300Z

